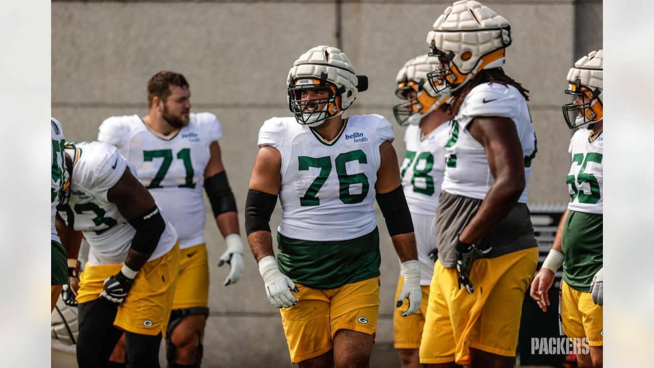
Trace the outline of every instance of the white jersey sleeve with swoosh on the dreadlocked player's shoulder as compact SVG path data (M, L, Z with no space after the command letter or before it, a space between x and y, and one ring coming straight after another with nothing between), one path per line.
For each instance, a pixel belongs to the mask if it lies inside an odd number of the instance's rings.
M505 117L514 119L518 116L520 105L512 94L487 88L473 89L466 96L465 105L462 107L460 114L466 117Z

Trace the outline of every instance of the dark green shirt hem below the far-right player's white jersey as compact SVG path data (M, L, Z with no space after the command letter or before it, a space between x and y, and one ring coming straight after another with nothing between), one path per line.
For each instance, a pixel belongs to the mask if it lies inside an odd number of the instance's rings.
M602 215L570 211L563 227L563 280L573 289L589 292L602 268Z

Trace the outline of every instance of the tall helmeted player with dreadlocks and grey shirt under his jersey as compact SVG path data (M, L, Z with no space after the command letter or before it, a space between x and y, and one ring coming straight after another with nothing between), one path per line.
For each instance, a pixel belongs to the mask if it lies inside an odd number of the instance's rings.
M502 69L511 28L489 7L456 1L433 28L427 44L441 69L428 77L453 101L420 361L513 367L538 263L526 206L536 155L528 91Z

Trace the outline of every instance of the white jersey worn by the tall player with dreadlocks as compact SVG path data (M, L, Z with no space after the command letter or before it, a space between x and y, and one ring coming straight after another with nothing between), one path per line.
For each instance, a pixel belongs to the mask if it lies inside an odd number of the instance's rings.
M445 143L443 191L483 200L495 182L484 147L466 129L475 117L505 117L515 123L525 156L525 191L518 202L526 203L531 160L536 156L536 134L525 98L510 84L479 84L464 99Z

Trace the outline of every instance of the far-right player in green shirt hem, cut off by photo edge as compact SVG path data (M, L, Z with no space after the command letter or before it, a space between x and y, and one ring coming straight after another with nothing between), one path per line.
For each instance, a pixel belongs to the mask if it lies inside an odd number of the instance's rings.
M589 354L577 354L579 367L602 367L604 278L602 229L604 208L604 111L602 108L604 50L577 60L568 71L565 93L575 100L563 106L570 129L572 156L566 183L570 203L562 215L552 249L532 282L530 296L543 311L549 306L547 291L554 274L563 266L561 322L571 339L588 339Z

